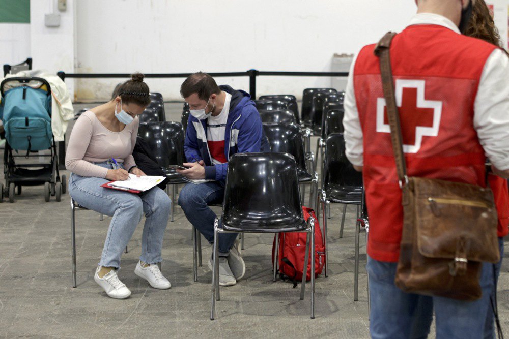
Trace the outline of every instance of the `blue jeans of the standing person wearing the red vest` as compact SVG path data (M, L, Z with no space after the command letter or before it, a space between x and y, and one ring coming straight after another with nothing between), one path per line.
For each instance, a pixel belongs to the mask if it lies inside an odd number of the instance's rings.
M372 338L426 338L431 313L423 310L430 310L430 305L435 308L437 338L483 337L488 307L491 307L493 264L483 264L480 276L483 296L475 301L405 293L394 285L397 265L367 258ZM420 316L425 319L419 319Z

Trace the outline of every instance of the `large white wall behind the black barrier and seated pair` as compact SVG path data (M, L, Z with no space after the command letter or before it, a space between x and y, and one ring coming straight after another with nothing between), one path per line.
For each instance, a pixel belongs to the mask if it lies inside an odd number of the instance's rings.
M403 29L412 0L76 0L77 72L330 71L334 53L355 53ZM79 80L78 99L106 98L124 79ZM148 79L166 100L184 79ZM248 90L243 78L219 83ZM258 77L257 94L302 95L330 78Z

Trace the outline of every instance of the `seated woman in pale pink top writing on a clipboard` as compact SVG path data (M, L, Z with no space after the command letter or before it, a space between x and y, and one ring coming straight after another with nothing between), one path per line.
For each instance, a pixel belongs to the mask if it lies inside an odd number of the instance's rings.
M125 299L131 291L119 280L120 257L136 225L145 213L142 254L134 273L158 289L171 287L158 263L171 200L158 187L133 194L102 188L111 180L126 180L129 173L145 175L132 157L138 117L150 103L143 74L124 82L118 95L103 105L81 114L67 147L66 167L72 172L69 194L81 206L112 216L94 280L112 298Z

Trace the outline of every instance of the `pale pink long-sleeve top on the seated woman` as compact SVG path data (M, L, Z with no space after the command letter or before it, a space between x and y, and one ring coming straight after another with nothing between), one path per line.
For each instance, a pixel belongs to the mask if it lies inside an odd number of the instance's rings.
M121 132L104 127L94 112L86 111L76 120L71 132L65 166L68 171L81 176L105 178L107 168L95 165L114 158L129 170L135 166L132 151L138 134L138 117Z

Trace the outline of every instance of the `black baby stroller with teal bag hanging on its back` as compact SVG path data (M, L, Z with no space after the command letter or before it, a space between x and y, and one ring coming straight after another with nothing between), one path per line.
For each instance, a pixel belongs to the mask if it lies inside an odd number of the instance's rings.
M6 139L5 188L0 184L0 201L5 196L14 202L16 187L19 195L22 186L36 185L44 185L44 200L49 201L52 195L56 201L60 201L62 194L66 193L67 180L65 175L60 178L56 144L51 131L49 83L36 77L7 78L0 83L0 94L0 117ZM47 149L50 155L41 157L39 151ZM50 161L45 163L48 157ZM34 158L38 160L37 163L33 161Z

